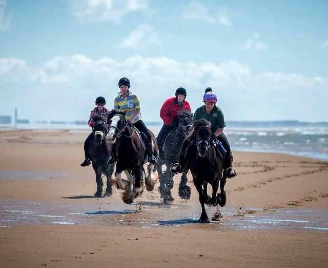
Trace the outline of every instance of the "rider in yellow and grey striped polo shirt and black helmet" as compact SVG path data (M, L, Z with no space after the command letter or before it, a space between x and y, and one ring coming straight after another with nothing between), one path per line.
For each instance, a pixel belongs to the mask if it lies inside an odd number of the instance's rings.
M156 157L153 156L152 137L145 123L141 120L139 99L134 92L129 90L130 80L125 77L121 78L118 82L118 87L120 92L118 92L118 95L114 99L114 110L126 111L125 117L127 121L139 131L145 133L147 137L146 151L149 156L149 163L156 164ZM114 153L113 156L115 156ZM111 161L113 160L111 159Z

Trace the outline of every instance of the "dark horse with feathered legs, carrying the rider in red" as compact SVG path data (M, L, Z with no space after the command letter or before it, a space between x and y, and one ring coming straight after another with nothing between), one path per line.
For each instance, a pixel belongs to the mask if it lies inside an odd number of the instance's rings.
M178 112L172 122L173 130L169 133L163 145L164 155L159 156L158 163L155 165L155 169L157 169L159 176L158 190L163 202L171 202L174 200L171 195L174 174L169 168L179 160L179 151L182 142L186 139L192 126L191 121L191 113L183 110ZM164 173L162 173L162 165L166 165L167 167L167 171ZM190 198L191 188L187 185L187 180L187 173L183 172L179 184L179 196L182 199Z

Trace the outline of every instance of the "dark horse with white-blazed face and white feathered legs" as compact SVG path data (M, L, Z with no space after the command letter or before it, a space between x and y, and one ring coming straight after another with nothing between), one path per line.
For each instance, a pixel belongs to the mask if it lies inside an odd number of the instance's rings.
M117 112L111 110L107 114L108 122L108 134L106 140L110 143L116 143L116 186L124 189L122 194L122 200L127 203L133 203L133 199L139 196L144 190L143 174L145 174L144 163L147 161L146 147L142 145L140 138L146 138L144 133L138 134L131 124L129 124L125 118L125 112ZM155 151L155 157L158 158L158 147L155 141L153 133L153 150ZM139 137L138 137L139 136ZM146 142L145 142L146 143ZM145 179L146 188L148 191L154 189L154 176L152 174L154 164L150 164L147 167L148 175ZM128 180L121 179L121 173L124 170L126 172Z

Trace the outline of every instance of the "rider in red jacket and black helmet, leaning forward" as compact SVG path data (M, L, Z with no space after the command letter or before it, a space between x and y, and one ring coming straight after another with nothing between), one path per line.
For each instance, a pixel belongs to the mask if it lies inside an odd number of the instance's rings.
M160 108L159 116L163 120L163 126L157 136L157 145L159 154L162 155L163 143L173 129L172 121L178 114L179 110L185 110L191 113L189 103L186 101L187 91L183 87L179 87L175 91L175 97L166 100Z

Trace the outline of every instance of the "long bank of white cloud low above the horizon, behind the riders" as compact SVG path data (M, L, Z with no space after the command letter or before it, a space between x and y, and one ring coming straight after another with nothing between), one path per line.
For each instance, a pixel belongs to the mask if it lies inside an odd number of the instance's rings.
M0 107L10 110L14 101L32 121L68 115L72 121L83 120L98 95L112 108L122 76L138 94L145 121L160 121L162 102L180 86L187 89L193 110L202 105L204 89L211 86L228 120L326 121L328 114L328 78L321 76L270 71L252 75L249 66L237 61L197 64L141 56L116 61L81 54L57 56L41 68L21 59L0 59L0 88L5 89L0 90ZM47 112L35 114L34 107L44 100Z

